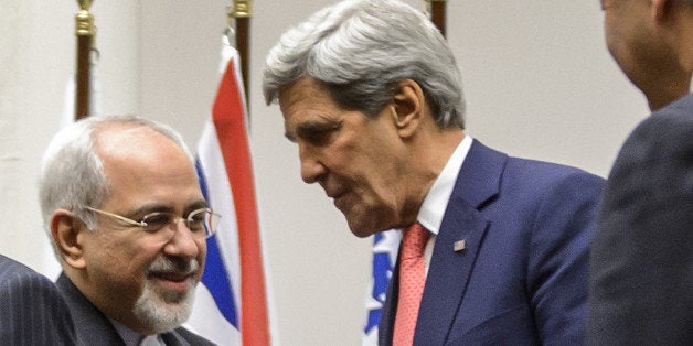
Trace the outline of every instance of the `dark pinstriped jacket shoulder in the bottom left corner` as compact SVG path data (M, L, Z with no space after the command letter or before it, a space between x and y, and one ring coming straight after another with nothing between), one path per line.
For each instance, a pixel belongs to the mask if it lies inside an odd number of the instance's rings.
M0 344L74 345L76 339L55 284L0 255Z

